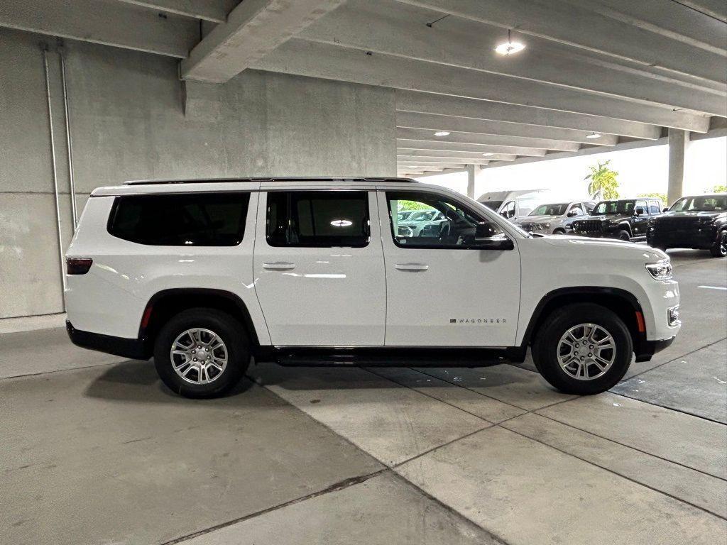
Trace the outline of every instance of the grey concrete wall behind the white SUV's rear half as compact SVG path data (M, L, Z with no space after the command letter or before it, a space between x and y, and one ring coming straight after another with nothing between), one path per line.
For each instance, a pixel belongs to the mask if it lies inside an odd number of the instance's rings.
M0 318L63 310L41 41L64 249L72 234L55 40L0 30ZM182 84L172 59L73 41L65 57L79 214L125 179L395 175L388 89L255 71Z

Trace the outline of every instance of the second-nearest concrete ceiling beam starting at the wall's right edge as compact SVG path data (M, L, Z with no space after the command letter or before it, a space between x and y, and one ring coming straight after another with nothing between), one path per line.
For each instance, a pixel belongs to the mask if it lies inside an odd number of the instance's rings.
M616 145L618 137L614 134L601 134L589 138L587 131L558 129L505 121L488 121L465 117L439 116L433 113L397 112L396 126L406 129L429 129L433 131L473 132L475 134L495 134L497 136L539 138L542 140L562 140L579 144Z

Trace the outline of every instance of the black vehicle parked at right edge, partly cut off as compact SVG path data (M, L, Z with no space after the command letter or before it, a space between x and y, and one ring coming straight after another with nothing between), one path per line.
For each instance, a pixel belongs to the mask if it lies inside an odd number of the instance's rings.
M727 195L682 197L662 217L648 224L649 246L709 250L714 257L727 255Z

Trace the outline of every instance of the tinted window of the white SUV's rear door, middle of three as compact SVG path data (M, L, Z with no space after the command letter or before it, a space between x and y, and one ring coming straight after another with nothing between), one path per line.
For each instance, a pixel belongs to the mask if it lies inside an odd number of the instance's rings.
M271 191L268 244L308 248L369 243L366 191Z

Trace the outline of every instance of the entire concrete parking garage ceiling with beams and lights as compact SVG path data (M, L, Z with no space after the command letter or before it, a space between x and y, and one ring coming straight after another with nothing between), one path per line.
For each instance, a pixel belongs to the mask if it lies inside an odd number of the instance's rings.
M186 80L391 87L401 175L727 118L722 0L4 0L0 26L178 57Z

